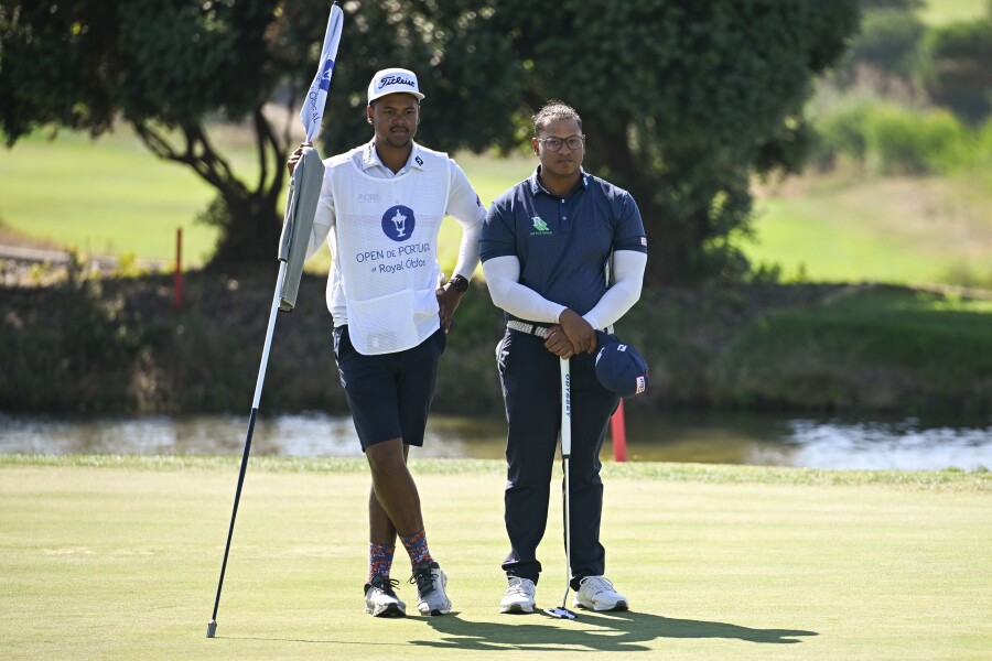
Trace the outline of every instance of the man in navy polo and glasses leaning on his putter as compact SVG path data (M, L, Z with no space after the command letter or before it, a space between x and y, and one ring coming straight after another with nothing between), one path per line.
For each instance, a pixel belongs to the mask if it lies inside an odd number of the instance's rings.
M533 116L530 178L490 206L479 253L493 302L505 311L497 367L508 422L504 495L510 551L500 613L532 613L548 520L560 422L560 358L571 359L571 588L575 606L624 610L603 575L600 448L619 402L595 375L596 330L640 297L647 239L626 192L582 169L585 136L571 107L550 101ZM612 263L612 278L604 272ZM605 337L602 336L601 337Z

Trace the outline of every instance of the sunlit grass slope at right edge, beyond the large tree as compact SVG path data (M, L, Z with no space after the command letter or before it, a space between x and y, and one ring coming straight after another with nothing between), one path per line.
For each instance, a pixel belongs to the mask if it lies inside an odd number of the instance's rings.
M754 263L828 282L992 279L992 204L981 176L810 180L756 202ZM957 274L957 275L956 275Z

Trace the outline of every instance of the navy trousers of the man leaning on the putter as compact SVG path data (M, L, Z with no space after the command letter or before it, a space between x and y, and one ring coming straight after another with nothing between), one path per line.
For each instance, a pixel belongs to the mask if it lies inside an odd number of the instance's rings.
M594 354L571 359L572 453L569 460L573 584L605 571L600 544L603 481L600 449L619 398L596 380ZM538 582L537 549L544 535L551 472L561 427L560 359L535 335L507 329L497 349L508 423L504 494L510 552L503 570ZM562 485L564 488L564 485ZM564 531L562 530L562 540Z

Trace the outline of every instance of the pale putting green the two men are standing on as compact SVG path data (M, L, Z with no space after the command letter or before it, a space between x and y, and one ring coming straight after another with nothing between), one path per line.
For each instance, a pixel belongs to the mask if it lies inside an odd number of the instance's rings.
M4 659L984 659L988 473L607 464L628 613L497 613L502 462L413 459L454 611L363 611L360 459L252 459L206 639L236 457L0 457ZM556 477L557 484L558 477ZM539 606L564 588L560 498ZM409 565L399 594L416 613Z

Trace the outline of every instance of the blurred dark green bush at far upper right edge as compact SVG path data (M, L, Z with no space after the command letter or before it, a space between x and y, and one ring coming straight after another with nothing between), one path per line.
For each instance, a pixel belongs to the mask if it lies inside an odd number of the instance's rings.
M973 124L988 119L992 112L992 18L930 30L920 75L936 104Z

